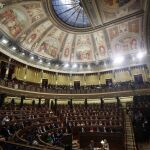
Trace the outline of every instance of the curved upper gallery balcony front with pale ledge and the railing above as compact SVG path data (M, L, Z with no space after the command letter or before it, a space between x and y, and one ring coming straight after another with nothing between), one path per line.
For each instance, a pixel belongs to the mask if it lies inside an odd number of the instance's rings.
M147 95L150 93L150 84L144 83L141 85L125 85L117 87L100 88L95 87L89 89L53 89L41 88L40 86L26 86L23 83L14 84L12 81L0 80L0 93L9 95L43 97L43 98L99 98L99 97L117 97L117 96L132 96L132 95Z

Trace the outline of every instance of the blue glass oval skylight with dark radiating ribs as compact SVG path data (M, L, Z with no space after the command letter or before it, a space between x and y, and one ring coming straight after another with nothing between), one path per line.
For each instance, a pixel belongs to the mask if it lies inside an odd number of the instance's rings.
M52 0L52 6L57 17L64 23L77 28L90 26L80 0Z

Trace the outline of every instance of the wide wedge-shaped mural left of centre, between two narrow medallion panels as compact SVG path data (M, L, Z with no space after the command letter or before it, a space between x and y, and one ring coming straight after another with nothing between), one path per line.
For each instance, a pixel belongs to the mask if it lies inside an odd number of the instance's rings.
M65 33L57 28L53 28L38 44L34 52L48 58L57 58L61 43Z

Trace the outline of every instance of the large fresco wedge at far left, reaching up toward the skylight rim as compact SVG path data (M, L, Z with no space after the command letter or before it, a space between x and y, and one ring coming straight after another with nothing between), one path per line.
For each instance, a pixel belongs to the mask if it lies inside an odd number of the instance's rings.
M40 2L14 4L0 10L1 28L14 38L31 24L45 17Z

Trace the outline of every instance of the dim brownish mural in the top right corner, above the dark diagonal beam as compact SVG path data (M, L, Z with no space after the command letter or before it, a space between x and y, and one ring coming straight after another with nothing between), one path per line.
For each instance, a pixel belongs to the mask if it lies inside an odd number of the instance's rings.
M102 0L102 18L104 22L121 18L141 10L141 0Z

